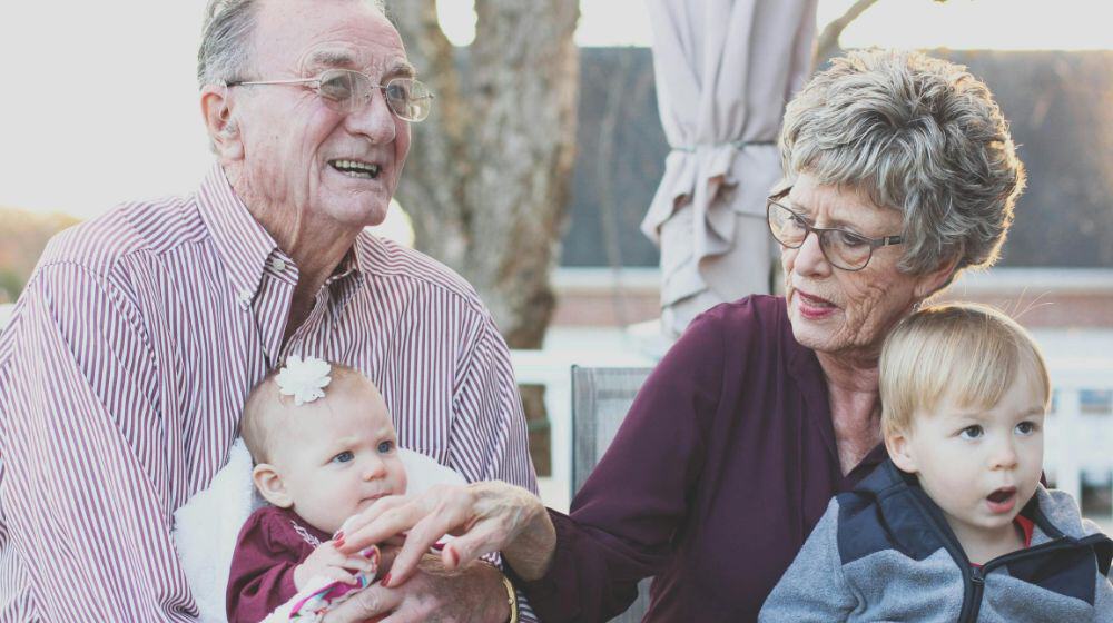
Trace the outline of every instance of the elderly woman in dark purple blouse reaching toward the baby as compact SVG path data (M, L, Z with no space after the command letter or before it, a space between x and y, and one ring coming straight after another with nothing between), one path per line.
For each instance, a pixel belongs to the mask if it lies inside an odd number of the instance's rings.
M769 198L785 297L699 317L657 366L570 515L500 483L381 501L355 551L408 530L450 566L501 551L546 622L751 621L828 500L885 457L877 360L890 328L996 257L1024 185L988 89L949 62L867 51L789 105Z

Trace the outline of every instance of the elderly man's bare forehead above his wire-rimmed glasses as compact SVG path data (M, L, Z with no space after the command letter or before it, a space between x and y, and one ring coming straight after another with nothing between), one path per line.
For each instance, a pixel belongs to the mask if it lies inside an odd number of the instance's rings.
M397 30L364 0L267 0L259 9L253 46L260 71L413 72Z

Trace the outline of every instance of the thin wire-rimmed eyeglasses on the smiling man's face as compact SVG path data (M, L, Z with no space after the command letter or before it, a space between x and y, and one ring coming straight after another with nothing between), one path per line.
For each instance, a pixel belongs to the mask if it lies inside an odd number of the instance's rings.
M413 78L391 78L385 85L376 85L366 73L351 69L326 69L316 78L302 80L234 80L229 87L249 85L311 85L328 108L342 112L355 112L363 108L375 89L383 91L386 106L406 121L417 122L429 117L433 107L433 93L424 83Z

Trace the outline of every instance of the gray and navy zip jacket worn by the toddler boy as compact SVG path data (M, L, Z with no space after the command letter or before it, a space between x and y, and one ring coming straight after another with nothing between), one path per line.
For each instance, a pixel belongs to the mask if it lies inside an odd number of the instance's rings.
M1040 486L1025 550L975 568L915 477L886 461L837 495L770 593L759 623L1113 623L1113 541Z

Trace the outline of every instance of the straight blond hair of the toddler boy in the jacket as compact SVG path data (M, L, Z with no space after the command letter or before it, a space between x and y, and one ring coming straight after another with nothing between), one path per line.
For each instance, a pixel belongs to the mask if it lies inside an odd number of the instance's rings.
M945 398L959 408L992 408L1025 372L1040 385L1045 409L1051 400L1047 366L1035 340L986 305L916 312L886 338L878 366L886 436L912 431L917 412L930 412Z

